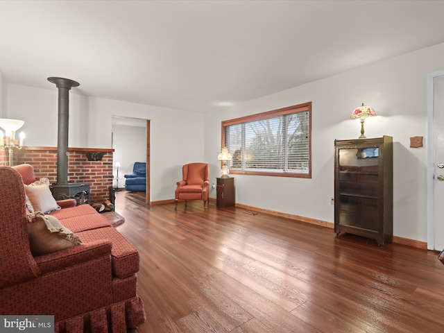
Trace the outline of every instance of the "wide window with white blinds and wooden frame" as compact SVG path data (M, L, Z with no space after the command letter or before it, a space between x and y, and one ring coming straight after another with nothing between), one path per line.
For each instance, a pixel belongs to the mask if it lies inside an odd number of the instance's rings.
M311 102L222 121L230 173L311 178Z

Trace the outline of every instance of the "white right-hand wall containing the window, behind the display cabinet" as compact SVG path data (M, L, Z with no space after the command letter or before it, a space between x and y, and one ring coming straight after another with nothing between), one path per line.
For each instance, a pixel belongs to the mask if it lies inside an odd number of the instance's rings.
M278 94L264 96L205 117L205 160L219 176L221 121L308 101L312 104L312 178L235 177L237 203L334 221L334 139L360 135L352 110L366 103L378 116L366 120L367 137L393 137L393 229L398 237L427 241L424 148L409 137L427 137L427 74L444 69L444 44L360 67ZM216 133L216 135L214 135ZM211 194L215 196L214 191Z

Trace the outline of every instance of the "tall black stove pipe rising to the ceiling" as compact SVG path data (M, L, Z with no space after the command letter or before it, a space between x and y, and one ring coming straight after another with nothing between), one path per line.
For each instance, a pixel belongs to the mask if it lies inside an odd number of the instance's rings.
M58 88L57 185L68 184L69 90L80 83L69 78L48 78Z

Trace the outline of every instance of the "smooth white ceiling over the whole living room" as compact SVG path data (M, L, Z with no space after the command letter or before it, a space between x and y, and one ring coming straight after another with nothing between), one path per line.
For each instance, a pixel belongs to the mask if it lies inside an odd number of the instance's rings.
M0 70L7 83L54 89L46 78L60 76L87 96L206 112L440 44L443 15L438 0L3 0Z

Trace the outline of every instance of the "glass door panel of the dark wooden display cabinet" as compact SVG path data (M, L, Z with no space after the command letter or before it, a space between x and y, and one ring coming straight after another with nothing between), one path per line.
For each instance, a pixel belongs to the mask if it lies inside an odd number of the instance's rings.
M377 231L379 148L339 148L338 153L339 225Z

